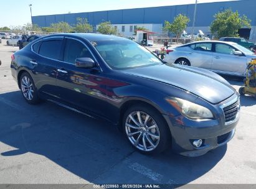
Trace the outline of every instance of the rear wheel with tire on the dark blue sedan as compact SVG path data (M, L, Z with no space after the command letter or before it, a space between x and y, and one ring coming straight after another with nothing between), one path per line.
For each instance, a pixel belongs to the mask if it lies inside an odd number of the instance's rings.
M21 75L21 79L19 81L19 85L21 86L21 93L24 99L29 104L37 104L39 103L40 99L36 90L36 86L34 81L29 75L29 73L24 72Z

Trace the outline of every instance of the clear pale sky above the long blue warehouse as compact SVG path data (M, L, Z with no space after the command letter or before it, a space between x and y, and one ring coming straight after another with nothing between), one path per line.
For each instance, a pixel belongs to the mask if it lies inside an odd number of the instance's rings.
M32 16L65 14L75 12L107 11L131 9L136 7L171 6L192 4L196 0L16 0L4 1L0 11L0 27L24 25L31 22L29 4L32 4ZM198 0L203 2L228 0Z

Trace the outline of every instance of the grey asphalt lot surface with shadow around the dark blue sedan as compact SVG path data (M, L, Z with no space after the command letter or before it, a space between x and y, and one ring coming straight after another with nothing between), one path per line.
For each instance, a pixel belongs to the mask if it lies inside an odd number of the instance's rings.
M49 102L26 103L10 71L18 47L0 44L0 183L256 183L256 99L242 96L229 144L201 157L141 155L108 122ZM227 78L236 90L238 78Z

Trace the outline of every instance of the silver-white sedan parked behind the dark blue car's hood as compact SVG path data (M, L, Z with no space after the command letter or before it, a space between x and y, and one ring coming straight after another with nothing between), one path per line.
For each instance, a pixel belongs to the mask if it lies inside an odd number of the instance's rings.
M164 61L205 68L220 74L244 76L254 52L234 42L193 42L170 49Z

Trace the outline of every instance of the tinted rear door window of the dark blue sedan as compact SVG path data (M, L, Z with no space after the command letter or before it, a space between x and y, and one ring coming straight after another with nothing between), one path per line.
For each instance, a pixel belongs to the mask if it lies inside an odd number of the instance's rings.
M41 42L39 54L43 57L60 59L60 49L62 40L45 40Z

